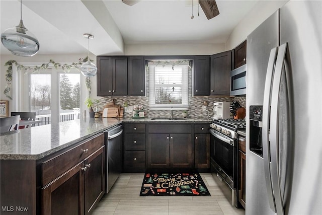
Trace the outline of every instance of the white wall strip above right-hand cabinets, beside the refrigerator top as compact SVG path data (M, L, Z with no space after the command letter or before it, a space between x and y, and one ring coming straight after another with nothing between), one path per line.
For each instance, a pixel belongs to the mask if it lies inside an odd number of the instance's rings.
M252 33L254 29L256 29L262 22L287 2L288 0L259 1L233 29L226 42L225 50L231 50L241 42L245 41L247 36Z

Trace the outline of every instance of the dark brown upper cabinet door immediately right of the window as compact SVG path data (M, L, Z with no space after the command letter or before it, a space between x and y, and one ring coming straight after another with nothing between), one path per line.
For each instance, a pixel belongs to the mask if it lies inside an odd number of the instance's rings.
M194 81L193 95L194 96L209 96L210 95L210 57L195 56L194 65Z

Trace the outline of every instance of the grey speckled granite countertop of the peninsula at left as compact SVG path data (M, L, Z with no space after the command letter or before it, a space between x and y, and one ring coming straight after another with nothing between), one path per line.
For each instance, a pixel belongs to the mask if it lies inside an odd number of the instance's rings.
M0 159L39 160L121 123L118 118L86 118L2 133Z

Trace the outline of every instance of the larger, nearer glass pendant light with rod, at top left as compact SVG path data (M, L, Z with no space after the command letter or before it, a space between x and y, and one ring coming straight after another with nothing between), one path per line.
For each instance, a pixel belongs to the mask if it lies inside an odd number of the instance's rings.
M11 53L31 57L39 51L39 42L36 37L28 31L22 21L22 0L20 1L20 23L1 34L1 42Z

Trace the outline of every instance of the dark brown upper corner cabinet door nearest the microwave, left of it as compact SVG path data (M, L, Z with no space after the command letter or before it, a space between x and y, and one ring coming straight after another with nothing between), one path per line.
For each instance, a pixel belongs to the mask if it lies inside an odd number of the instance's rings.
M210 56L210 95L230 94L231 51Z

